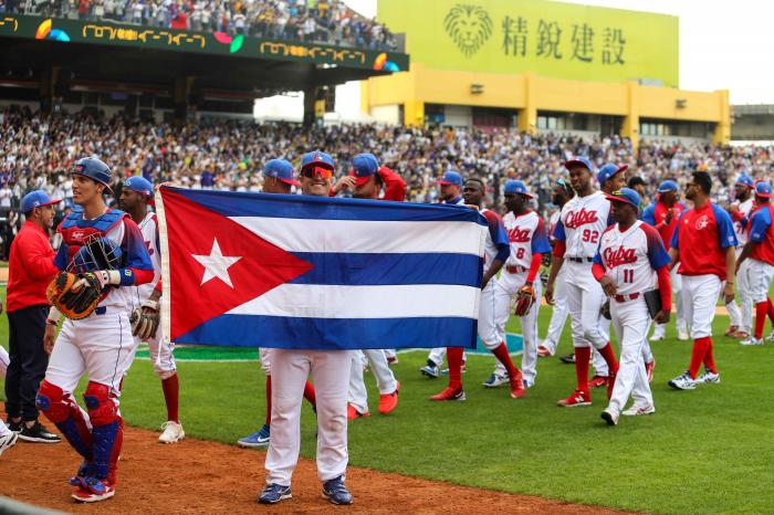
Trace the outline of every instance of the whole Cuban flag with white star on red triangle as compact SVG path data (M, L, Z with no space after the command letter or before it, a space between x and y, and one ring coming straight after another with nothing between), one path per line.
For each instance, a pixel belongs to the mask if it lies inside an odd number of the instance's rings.
M475 347L485 220L459 206L161 186L178 344Z

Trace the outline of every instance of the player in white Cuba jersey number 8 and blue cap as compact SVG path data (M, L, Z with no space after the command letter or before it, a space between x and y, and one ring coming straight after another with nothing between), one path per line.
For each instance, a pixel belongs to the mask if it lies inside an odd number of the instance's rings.
M535 276L543 262L543 255L551 253L551 244L545 232L543 219L529 208L530 201L534 198L521 180L505 181L504 188L505 207L509 212L503 218L505 233L511 244L511 252L505 262L504 272L500 275L494 292L495 320L500 334L505 334L505 324L509 318L509 307L511 298L526 288L527 295L532 294L532 299L526 309L521 308L524 314L520 314L520 301L516 301L516 316L520 316L522 324L522 338L524 351L522 354L522 376L524 388L530 388L535 383L537 370L537 313L540 311L541 281L535 282ZM523 301L521 301L523 302ZM481 319L479 317L479 324ZM490 382L496 382L498 378L510 377L502 361L498 361L492 377L484 386L492 388ZM492 381L495 378L495 381Z

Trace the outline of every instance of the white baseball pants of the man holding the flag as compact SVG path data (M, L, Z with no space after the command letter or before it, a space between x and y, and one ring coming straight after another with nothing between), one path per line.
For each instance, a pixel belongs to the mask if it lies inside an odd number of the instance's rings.
M317 476L328 481L347 469L347 389L351 350L272 349L271 441L266 483L291 484L301 449L301 403L312 375L317 391Z

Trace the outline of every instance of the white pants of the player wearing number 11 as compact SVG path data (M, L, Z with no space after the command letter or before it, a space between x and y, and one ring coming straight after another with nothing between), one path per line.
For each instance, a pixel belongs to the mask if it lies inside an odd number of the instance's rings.
M640 295L632 301L621 303L611 301L610 315L620 345L620 359L608 409L620 414L629 396L637 407L652 406L653 403L648 375L642 361L642 346L650 326L650 314L645 297Z

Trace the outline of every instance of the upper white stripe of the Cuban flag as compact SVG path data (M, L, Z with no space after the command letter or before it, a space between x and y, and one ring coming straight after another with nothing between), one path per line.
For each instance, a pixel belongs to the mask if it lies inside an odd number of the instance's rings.
M394 222L230 217L289 252L458 253L483 255L487 228L471 222ZM378 237L377 237L378 235Z

